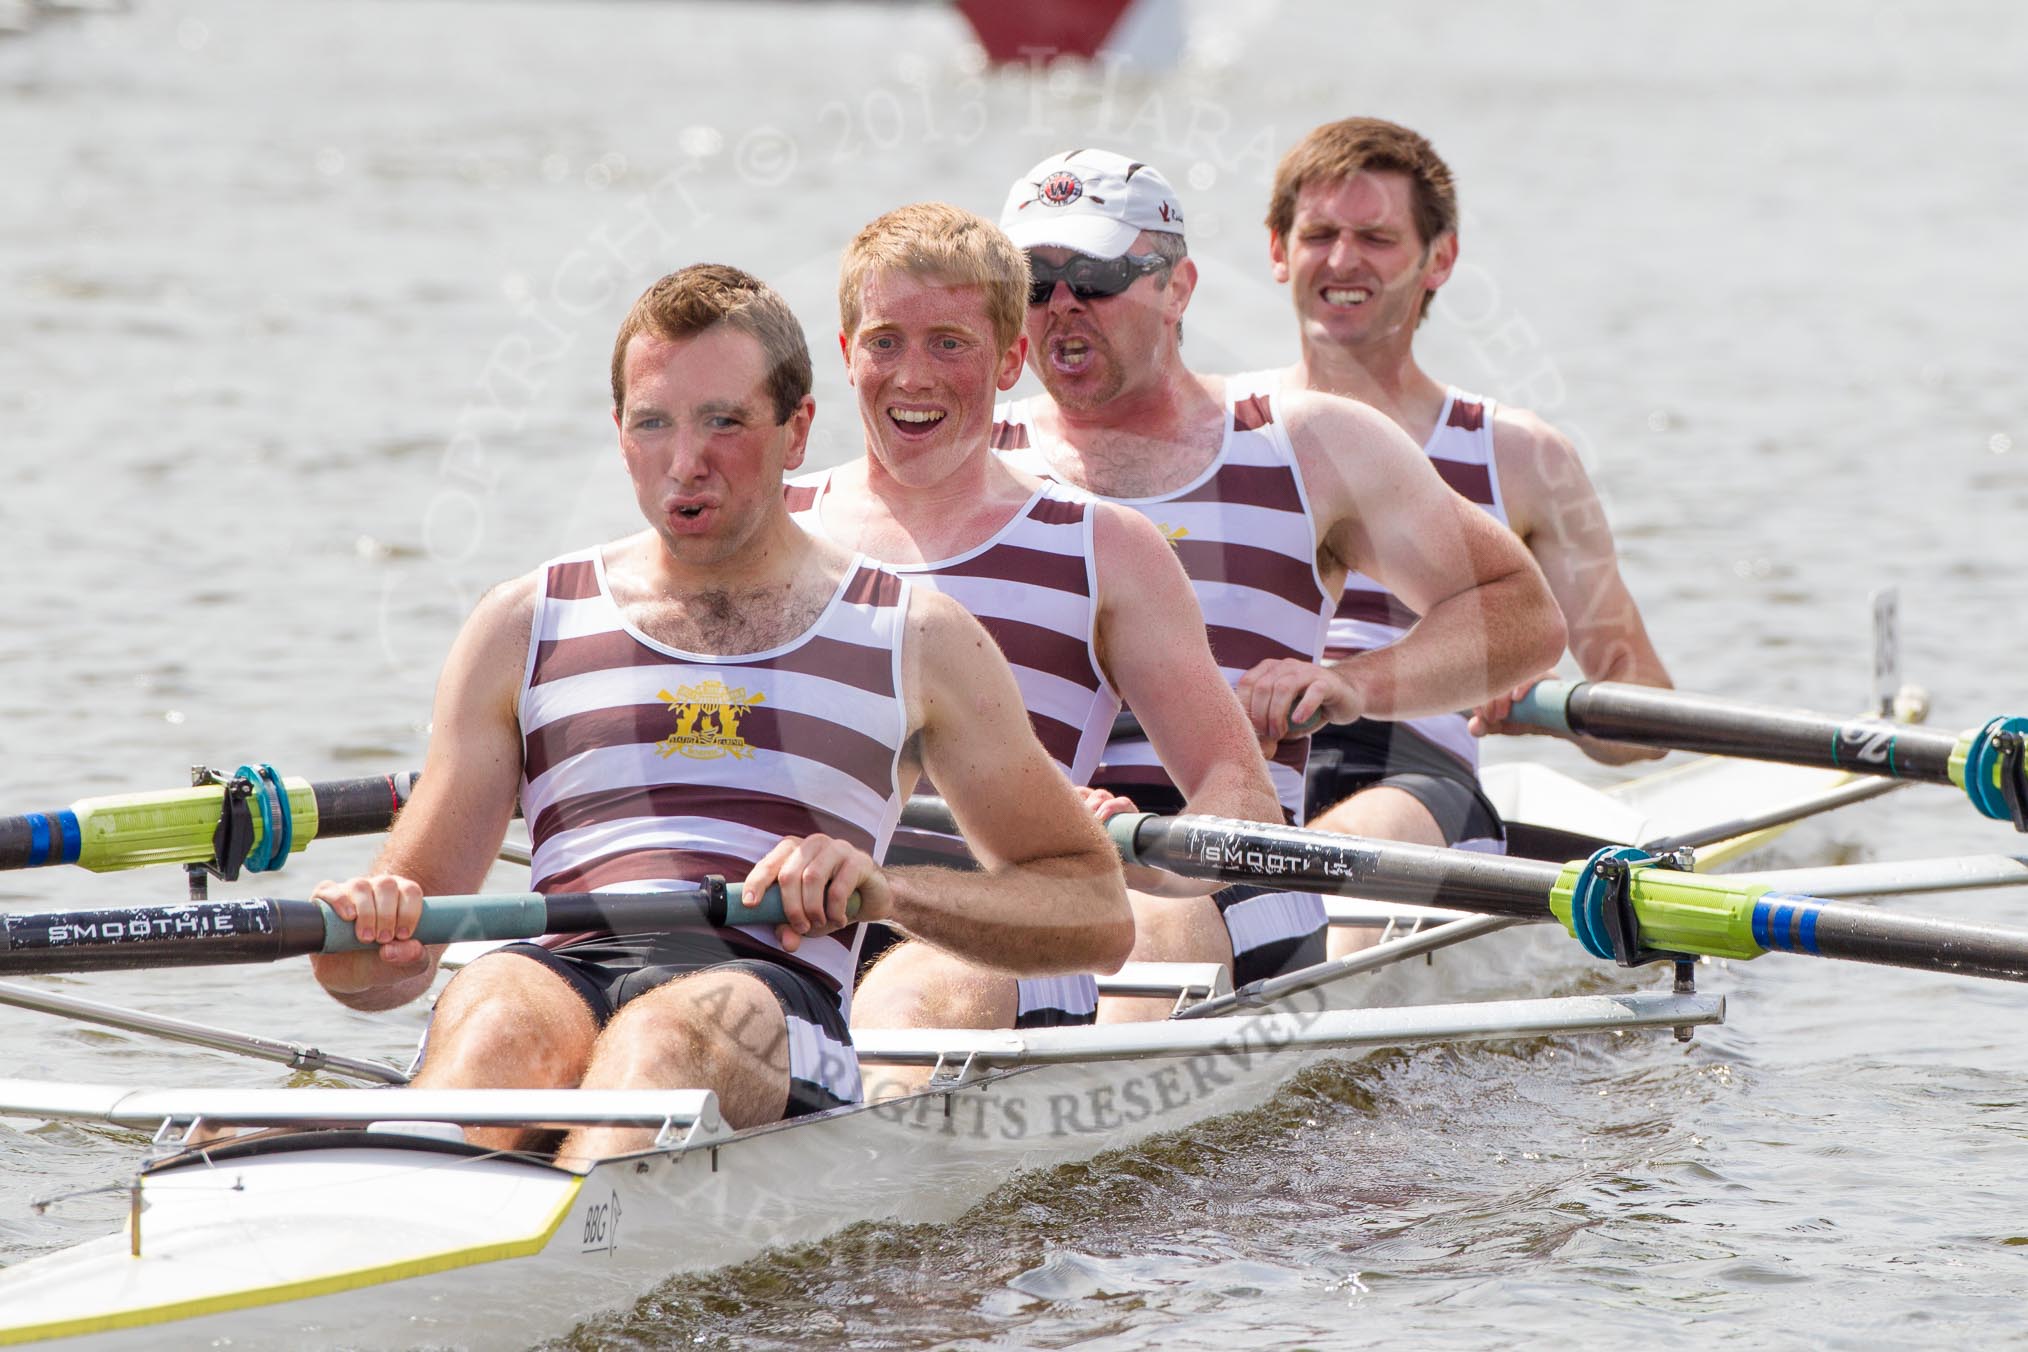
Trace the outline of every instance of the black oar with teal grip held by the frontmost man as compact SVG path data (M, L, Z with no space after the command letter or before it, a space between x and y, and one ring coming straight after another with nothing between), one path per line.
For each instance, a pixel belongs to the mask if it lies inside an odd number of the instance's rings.
M846 914L860 914L858 892L846 900ZM414 938L448 945L783 922L781 888L771 886L746 906L740 884L710 878L661 892L426 896ZM0 916L0 973L6 975L274 963L375 947L361 943L353 922L324 902L266 896Z

